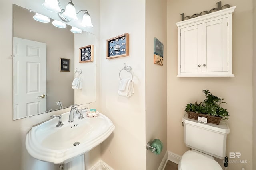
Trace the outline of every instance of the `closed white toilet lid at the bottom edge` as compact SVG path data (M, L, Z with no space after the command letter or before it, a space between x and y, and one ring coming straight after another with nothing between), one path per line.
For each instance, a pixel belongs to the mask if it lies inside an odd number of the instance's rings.
M214 159L191 150L183 154L179 166L180 170L222 170Z

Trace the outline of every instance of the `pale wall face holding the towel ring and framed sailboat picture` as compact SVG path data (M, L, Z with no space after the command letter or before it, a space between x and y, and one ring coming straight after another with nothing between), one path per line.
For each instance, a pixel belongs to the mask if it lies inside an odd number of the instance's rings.
M100 111L116 126L101 145L101 158L115 170L144 170L145 1L101 0L100 13ZM129 33L129 56L106 59L106 39L124 33ZM133 72L134 95L130 98L118 96L124 63Z

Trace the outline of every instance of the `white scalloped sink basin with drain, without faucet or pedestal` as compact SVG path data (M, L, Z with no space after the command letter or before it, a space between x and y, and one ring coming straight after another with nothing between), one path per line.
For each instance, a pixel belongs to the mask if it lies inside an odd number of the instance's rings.
M86 113L86 112L84 112ZM34 158L54 164L66 164L102 143L115 129L103 114L98 117L68 122L69 112L62 114L62 127L56 127L58 117L32 127L26 135L26 149Z

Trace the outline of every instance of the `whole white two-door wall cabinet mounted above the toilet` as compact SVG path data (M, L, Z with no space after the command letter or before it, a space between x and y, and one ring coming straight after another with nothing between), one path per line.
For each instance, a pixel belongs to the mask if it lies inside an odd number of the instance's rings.
M176 23L178 77L233 77L232 12L236 7Z

